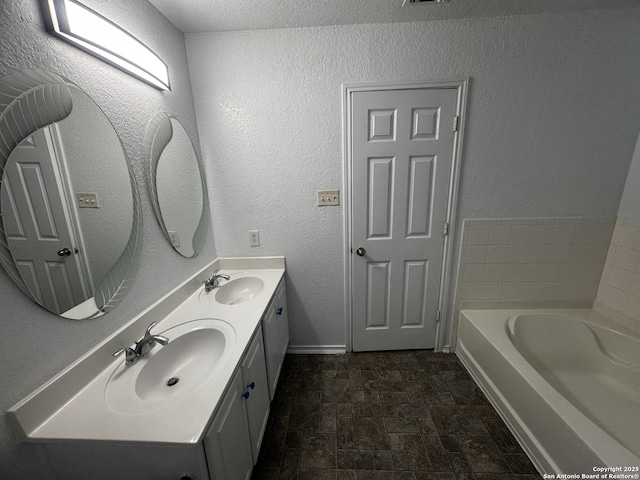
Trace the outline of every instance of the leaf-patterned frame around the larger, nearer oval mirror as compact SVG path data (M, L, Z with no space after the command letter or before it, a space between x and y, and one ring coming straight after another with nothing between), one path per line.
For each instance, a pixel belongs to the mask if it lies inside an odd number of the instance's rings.
M2 175L0 188L5 179L7 162L14 149L38 130L61 122L71 115L74 91L90 99L77 85L60 75L42 69L20 70L0 79L0 174ZM95 106L102 113L100 108ZM106 116L104 120L111 125ZM142 211L138 188L133 170L115 129L113 135L122 150L122 159L129 174L133 206L131 232L119 258L95 284L93 297L90 297L95 301L95 310L74 311L69 315L64 315L67 312L52 312L64 318L74 320L95 318L111 311L130 289L140 262ZM41 307L52 311L38 300L23 279L9 249L2 213L0 206L0 265L27 297Z

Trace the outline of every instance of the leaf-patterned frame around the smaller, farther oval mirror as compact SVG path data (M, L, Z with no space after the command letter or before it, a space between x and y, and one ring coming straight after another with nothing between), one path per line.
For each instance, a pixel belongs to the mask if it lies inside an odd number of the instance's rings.
M160 225L160 229L162 230L162 234L169 242L169 245L172 245L173 247L171 236L169 235L169 231L166 224L164 223L162 212L160 210L160 200L158 198L158 190L156 185L156 174L160 157L162 156L162 152L173 137L173 127L171 125L172 119L180 123L180 120L166 112L159 112L151 119L151 122L149 122L149 127L147 128L145 151L147 152L149 159L148 183L151 205L153 206L153 211L156 215L156 219L158 220L158 224ZM191 141L193 147L193 140L191 140L190 136L189 140ZM204 246L204 239L206 236L207 213L209 211L209 201L207 195L206 180L204 176L204 166L202 165L202 160L195 151L195 148L193 149L193 151L196 157L196 162L198 164L198 171L200 172L200 185L202 188L202 212L200 214L198 227L196 228L196 231L193 234L193 239L191 241L194 254L191 257L187 257L186 255L183 255L177 248L173 247L173 249L177 253L184 256L185 258L194 258L198 256L198 254L202 251L202 248Z

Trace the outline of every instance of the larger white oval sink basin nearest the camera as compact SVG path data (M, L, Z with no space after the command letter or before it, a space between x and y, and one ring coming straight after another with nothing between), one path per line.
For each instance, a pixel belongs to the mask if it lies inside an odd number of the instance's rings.
M104 400L116 413L154 412L183 401L213 381L235 345L233 327L218 319L182 323L160 332L169 338L136 364L122 361L107 382Z

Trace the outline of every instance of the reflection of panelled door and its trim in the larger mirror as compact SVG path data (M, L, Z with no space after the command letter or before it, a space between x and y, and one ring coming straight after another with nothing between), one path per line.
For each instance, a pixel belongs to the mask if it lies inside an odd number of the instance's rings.
M78 254L74 209L64 188L63 152L55 125L38 130L11 154L1 190L15 264L38 303L57 314L92 295L83 273L88 270L82 265L84 257Z

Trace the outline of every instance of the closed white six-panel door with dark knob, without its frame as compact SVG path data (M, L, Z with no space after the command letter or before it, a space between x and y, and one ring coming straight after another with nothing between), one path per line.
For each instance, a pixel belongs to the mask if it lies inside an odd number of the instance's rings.
M457 97L351 92L354 351L435 345Z

